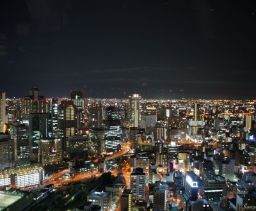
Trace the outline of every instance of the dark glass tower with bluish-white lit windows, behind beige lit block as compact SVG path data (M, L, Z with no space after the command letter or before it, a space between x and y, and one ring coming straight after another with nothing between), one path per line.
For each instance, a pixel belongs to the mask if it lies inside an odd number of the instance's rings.
M30 159L38 160L38 141L52 137L52 114L29 114Z

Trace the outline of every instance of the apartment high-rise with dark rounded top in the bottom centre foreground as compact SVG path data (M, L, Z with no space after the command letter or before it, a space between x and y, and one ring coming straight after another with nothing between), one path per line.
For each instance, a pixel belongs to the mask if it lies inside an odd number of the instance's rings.
M132 189L132 201L144 201L146 197L146 176L143 169L137 168L130 176L130 187Z

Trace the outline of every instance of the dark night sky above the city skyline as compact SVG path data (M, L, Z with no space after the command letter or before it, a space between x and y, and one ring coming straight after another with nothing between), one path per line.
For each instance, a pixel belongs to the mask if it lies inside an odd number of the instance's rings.
M255 98L256 1L6 0L0 21L10 98Z

